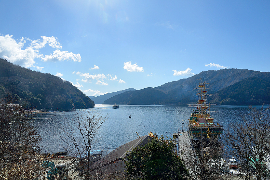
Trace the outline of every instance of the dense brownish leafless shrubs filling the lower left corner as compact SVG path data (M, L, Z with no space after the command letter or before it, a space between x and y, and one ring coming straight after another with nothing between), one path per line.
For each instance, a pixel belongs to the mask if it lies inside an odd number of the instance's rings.
M0 103L0 179L37 179L42 167L41 138L23 106L10 94Z

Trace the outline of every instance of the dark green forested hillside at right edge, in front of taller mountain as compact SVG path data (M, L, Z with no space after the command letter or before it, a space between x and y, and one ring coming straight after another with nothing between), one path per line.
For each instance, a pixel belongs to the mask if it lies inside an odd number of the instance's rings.
M221 105L261 105L270 103L270 82L258 77L245 78L209 97Z

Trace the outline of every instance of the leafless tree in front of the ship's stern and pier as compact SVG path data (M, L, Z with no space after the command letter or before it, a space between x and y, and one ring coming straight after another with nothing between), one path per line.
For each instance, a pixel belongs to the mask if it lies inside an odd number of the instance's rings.
M191 142L187 133L179 137L178 154L185 162L190 175L187 179L230 179L224 161L222 145L218 141ZM225 174L225 176L223 176Z

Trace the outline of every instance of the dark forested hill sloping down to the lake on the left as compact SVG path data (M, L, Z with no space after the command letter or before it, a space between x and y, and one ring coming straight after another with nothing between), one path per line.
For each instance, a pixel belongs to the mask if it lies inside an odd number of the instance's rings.
M72 109L94 107L94 102L69 81L48 73L7 62L0 58L0 98L5 93L16 97L16 103L26 99L37 108Z

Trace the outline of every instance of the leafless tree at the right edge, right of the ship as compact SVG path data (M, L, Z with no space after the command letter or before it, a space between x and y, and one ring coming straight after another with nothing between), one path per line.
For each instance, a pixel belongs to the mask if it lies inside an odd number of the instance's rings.
M252 176L253 167L257 180L269 179L270 107L256 109L249 107L247 115L242 114L241 123L233 123L225 131L224 145L227 153L238 159L245 180Z

